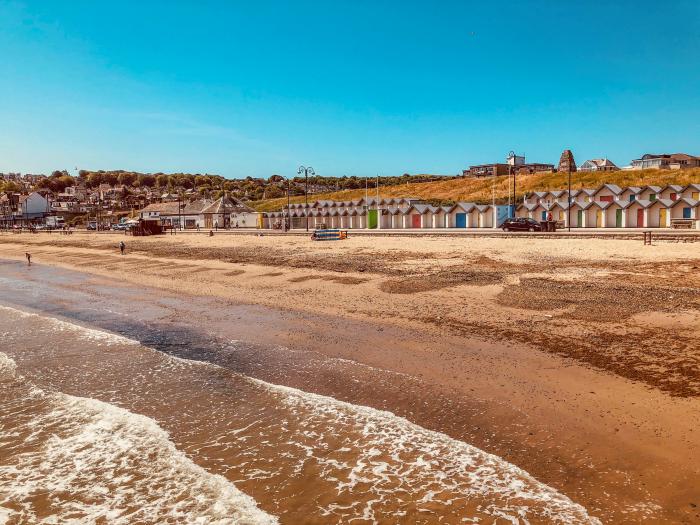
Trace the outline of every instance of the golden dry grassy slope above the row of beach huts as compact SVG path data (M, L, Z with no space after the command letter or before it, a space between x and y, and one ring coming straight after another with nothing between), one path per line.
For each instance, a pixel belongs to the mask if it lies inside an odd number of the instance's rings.
M643 171L613 171L613 172L575 172L571 174L571 186L578 188L595 188L604 183L617 184L618 186L645 186L666 184L687 185L700 184L700 169L670 171L670 170L643 170ZM371 186L370 179L369 196L377 194L376 187ZM512 181L511 181L512 184ZM463 178L450 179L437 182L424 182L416 184L402 184L400 186L387 186L379 188L379 196L384 197L418 197L434 204L449 204L457 201L478 202L489 204L492 202L493 189L495 188L496 201L499 203L508 200L508 177L496 177L488 179ZM543 173L539 175L519 175L517 179L518 200L524 193L531 191L545 191L566 189L566 173ZM512 191L512 190L511 190ZM315 200L351 200L365 196L365 190L345 190L332 193L309 195L309 202ZM304 197L292 197L291 202L304 202ZM249 203L258 211L276 211L287 204L286 198L267 199Z

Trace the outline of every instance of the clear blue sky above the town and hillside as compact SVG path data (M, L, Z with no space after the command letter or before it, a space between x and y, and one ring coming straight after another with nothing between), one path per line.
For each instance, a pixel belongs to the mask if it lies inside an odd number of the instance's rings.
M0 171L700 154L698 0L0 0L0 71Z

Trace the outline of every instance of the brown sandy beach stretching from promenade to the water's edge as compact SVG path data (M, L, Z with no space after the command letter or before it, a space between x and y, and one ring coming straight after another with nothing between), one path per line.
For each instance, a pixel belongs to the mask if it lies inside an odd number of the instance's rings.
M257 305L267 313L250 340L415 378L422 393L386 399L287 381L496 454L603 522L700 519L696 243L0 235L0 258L25 252L98 280Z

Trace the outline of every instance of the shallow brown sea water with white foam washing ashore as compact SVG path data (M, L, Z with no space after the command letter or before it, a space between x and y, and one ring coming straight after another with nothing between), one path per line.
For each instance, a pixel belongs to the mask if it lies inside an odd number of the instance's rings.
M0 337L0 523L598 523L387 411L27 308Z

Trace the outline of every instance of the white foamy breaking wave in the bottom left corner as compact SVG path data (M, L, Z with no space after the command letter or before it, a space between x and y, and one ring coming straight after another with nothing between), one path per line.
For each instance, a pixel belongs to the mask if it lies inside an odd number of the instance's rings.
M44 392L4 353L0 385L0 523L277 523L150 418Z

